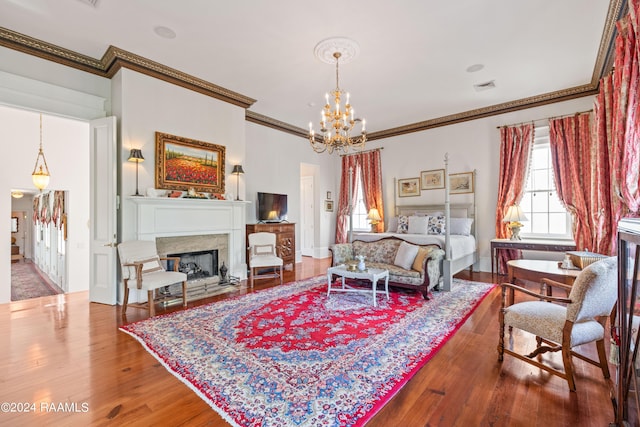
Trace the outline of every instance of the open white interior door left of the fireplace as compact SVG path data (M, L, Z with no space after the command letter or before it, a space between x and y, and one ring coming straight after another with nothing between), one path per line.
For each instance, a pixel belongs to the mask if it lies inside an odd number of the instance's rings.
M117 283L117 141L116 118L92 120L89 300L114 305Z

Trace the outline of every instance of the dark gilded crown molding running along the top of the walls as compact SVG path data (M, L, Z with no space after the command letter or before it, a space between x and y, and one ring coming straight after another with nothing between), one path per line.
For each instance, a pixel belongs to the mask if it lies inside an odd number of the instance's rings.
M367 135L367 139L372 141L376 139L390 138L407 133L420 132L426 129L449 126L465 121L524 110L540 105L595 95L598 92L600 79L611 71L613 67L614 44L617 34L616 22L624 16L627 10L627 0L611 0L609 2L609 9L607 11L607 18L602 32L602 37L600 39L598 55L596 57L591 77L591 83L589 84L457 114L451 114L435 119L429 119L422 122L411 123L378 132L371 132ZM186 89L229 102L233 105L243 107L246 109L245 119L248 122L270 127L301 138L308 138L308 132L305 129L263 114L249 111L248 108L256 102L255 99L230 91L221 86L214 85L213 83L114 46L109 46L102 59L97 60L2 27L0 27L0 46L5 46L10 49L18 50L23 53L34 55L106 78L113 77L121 68L131 69Z

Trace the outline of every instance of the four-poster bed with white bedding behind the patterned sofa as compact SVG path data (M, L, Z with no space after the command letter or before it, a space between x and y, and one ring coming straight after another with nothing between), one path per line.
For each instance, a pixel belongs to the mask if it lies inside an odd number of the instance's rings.
M473 179L475 182L475 170ZM395 181L395 179L394 179ZM394 188L397 191L396 183ZM445 156L445 202L435 205L398 205L397 194L395 195L395 217L388 223L387 231L384 233L353 233L353 240L366 242L377 241L386 237L402 239L414 245L436 244L445 251L445 256L441 266L442 289L451 290L453 275L465 268L473 268L473 264L478 261L477 232L476 232L476 197L473 191L473 203L451 204L449 201L450 185L448 172L448 156ZM424 224L425 217L433 221L444 222L444 227L434 229L429 226L426 232L419 226L410 227L411 223ZM409 221L409 227L398 232L397 222L402 222L405 218ZM412 221L414 220L414 221ZM420 231L420 232L415 232ZM432 234L435 231L438 234Z

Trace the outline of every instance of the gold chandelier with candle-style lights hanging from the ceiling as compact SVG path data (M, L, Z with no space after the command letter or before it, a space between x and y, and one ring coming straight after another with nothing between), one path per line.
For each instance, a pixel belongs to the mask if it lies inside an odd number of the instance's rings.
M345 39L337 39L344 43ZM348 39L347 39L348 40ZM330 43L330 47L336 48L336 39L329 39L322 43ZM350 43L354 43L350 41ZM320 46L319 44L318 46ZM341 47L341 46L339 46ZM321 112L320 120L320 134L316 135L313 130L313 123L309 122L309 142L311 147L316 153L323 153L328 151L329 154L334 150L338 152L347 153L349 149L362 149L367 141L366 122L364 119L356 118L353 107L349 100L349 93L340 89L340 77L339 77L339 62L343 56L340 49L336 50L331 55L335 58L336 63L336 88L331 92L331 99L333 104L330 103L329 94L325 94L325 105ZM316 56L320 57L317 53L318 47L316 47ZM322 58L321 58L322 59ZM325 61L326 62L326 61ZM342 106L342 100L345 100L344 106ZM360 135L352 136L351 132L354 130L356 123L361 123Z

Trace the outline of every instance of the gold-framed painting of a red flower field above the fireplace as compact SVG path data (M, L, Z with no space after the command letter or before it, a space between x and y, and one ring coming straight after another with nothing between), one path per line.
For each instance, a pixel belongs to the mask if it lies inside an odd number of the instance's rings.
M156 188L224 194L225 147L156 132Z

